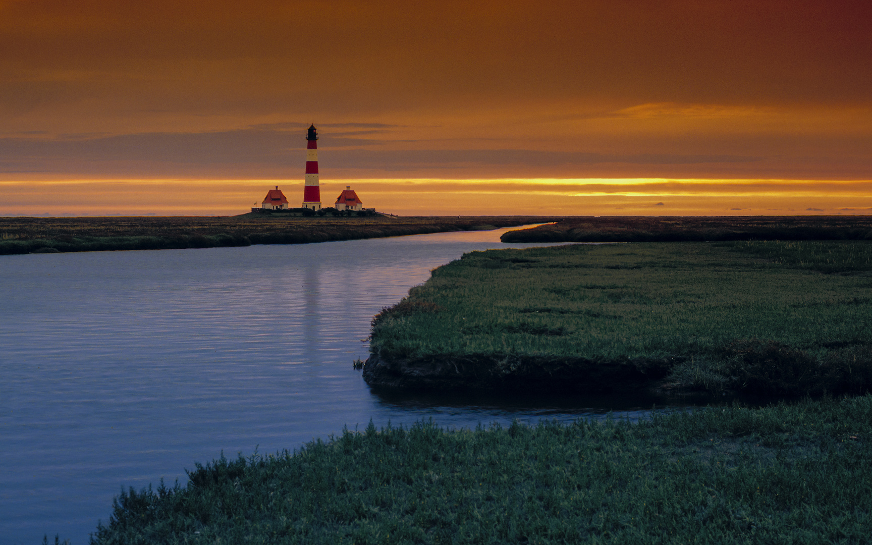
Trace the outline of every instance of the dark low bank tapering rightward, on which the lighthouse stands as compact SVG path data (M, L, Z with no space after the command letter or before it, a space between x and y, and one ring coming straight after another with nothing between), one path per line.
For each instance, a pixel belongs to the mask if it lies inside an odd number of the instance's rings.
M0 255L300 244L512 227L539 216L0 218Z

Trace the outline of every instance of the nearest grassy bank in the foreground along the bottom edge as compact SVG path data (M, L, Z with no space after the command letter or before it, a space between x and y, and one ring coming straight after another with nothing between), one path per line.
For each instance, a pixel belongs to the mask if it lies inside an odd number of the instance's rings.
M868 543L872 397L569 426L372 426L122 494L93 545Z

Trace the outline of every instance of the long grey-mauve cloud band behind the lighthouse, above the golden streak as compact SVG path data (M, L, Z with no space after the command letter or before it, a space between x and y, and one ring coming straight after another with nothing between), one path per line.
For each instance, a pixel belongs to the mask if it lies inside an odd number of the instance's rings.
M0 138L0 173L137 179L294 177L303 163L303 128L289 123L197 133L78 133L56 138ZM390 135L378 133L382 130L389 129L340 132L325 129L318 140L322 173L338 178L696 178L712 173L730 178L746 173L744 177L761 178L763 172L777 174L769 176L772 178L790 178L807 174L809 160L817 161L814 164L823 162L820 157L773 158L741 153L746 151L743 149L734 150L739 153L693 153L696 149L692 145L682 146L685 153L482 149L472 146L474 142L467 142L470 145L467 148L433 149L433 141L393 140ZM452 142L438 143L445 146ZM482 144L494 146L500 142ZM412 149L398 149L404 146ZM845 164L855 170L869 170L872 157L858 156L854 162ZM832 165L827 164L826 168L832 174Z

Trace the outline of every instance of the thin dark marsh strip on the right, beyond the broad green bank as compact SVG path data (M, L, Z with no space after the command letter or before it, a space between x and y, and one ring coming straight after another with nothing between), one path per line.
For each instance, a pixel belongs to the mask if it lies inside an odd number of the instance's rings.
M872 240L872 215L617 216L509 231L502 242L705 242Z

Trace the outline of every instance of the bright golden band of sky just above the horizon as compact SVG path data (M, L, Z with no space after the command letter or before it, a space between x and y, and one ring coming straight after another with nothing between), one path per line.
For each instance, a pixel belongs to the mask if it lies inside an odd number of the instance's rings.
M321 184L324 206L351 185L367 208L401 215L781 215L872 210L872 181L766 179L350 179ZM0 215L236 215L301 180L0 181ZM51 201L45 195L51 194ZM660 203L663 201L663 204ZM777 215L776 214L776 215Z

